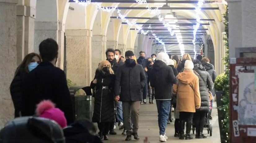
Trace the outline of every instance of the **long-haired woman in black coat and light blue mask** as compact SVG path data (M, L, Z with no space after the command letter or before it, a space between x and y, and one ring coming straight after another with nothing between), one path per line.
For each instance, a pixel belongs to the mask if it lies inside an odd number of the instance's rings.
M36 68L39 63L41 63L40 56L36 53L30 53L24 57L22 63L15 71L14 78L10 85L11 98L15 108L15 118L21 116L24 80L29 72Z

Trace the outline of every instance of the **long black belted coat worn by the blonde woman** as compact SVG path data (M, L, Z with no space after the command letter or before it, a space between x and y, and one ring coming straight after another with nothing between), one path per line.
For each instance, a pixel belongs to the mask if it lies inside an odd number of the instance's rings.
M90 87L96 92L94 95L94 112L93 122L113 122L115 121L114 110L114 82L115 75L103 74L102 71L96 70L95 78L97 83L91 82ZM108 86L110 89L102 89L103 86Z

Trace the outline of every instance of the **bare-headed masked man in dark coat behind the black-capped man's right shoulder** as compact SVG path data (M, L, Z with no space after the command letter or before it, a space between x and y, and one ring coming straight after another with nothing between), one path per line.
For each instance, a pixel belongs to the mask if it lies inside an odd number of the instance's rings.
M142 67L144 69L144 72L145 72L146 80L148 80L148 73L146 71L147 65L148 65L148 59L145 58L145 52L144 51L139 52L139 58L137 59L137 63L142 65ZM143 98L143 101L141 101L141 104L143 104L143 103L147 104L147 102L146 102L147 95L148 95L148 84L146 84L144 86L143 90L142 90L142 95L141 96Z

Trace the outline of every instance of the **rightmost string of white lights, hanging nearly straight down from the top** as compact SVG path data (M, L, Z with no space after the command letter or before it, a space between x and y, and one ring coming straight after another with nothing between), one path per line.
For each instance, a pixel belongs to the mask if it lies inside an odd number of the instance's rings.
M194 35L194 38L192 40L193 42L193 45L194 45L194 59L196 59L196 32L200 26L200 12L201 12L201 7L203 6L205 0L199 0L198 3L197 3L197 6L196 6L196 25L193 26L193 35Z

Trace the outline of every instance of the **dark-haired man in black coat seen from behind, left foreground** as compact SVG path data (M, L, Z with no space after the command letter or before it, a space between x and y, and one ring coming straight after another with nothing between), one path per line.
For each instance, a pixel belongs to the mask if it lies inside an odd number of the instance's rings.
M55 67L58 44L54 39L43 40L39 45L42 63L33 69L24 82L22 116L33 116L36 105L42 100L51 100L64 112L67 123L74 122L74 111L63 70Z

